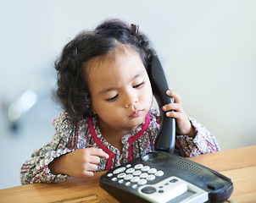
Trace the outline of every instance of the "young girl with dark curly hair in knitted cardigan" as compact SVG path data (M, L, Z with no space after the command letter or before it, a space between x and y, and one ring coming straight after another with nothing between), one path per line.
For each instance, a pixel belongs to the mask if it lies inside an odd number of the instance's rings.
M64 107L53 120L56 134L23 164L21 183L90 178L153 151L159 110L152 107L147 69L154 54L138 26L119 19L75 36L55 63L57 96ZM166 94L175 100L163 107L176 120L175 154L219 151L214 136L186 116L181 96Z

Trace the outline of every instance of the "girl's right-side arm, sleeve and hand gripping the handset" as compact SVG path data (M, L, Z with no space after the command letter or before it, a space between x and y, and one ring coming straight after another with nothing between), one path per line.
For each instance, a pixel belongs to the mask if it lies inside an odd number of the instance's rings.
M213 134L205 129L202 124L186 116L181 107L181 96L174 91L167 91L172 96L174 103L164 105L166 116L175 118L176 139L175 154L180 156L198 156L200 154L220 151L220 146ZM174 112L169 112L174 110Z

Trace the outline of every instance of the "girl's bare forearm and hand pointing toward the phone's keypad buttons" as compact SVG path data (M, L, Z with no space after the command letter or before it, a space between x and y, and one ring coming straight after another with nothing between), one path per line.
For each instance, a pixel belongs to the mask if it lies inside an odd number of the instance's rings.
M100 157L109 158L109 155L102 149L95 147L72 151L59 156L49 163L51 173L65 174L75 178L91 178L97 170Z

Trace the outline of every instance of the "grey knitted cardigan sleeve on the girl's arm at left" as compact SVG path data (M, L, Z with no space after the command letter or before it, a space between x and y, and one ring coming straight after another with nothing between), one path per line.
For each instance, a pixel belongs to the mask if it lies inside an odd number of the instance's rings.
M75 151L75 141L70 139L74 137L72 136L74 133L67 129L70 122L64 112L53 121L53 125L56 128L56 134L51 143L43 145L42 148L32 153L31 158L22 165L21 184L58 183L69 177L63 174L54 175L48 165L59 156Z

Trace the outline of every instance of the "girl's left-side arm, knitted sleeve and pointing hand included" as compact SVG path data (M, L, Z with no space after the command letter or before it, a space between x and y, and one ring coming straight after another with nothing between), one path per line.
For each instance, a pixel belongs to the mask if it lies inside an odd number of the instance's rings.
M78 149L81 123L72 123L66 113L53 121L56 134L51 143L35 151L21 167L21 183L58 183L70 176L90 178L97 170L100 157L109 155L95 147Z

